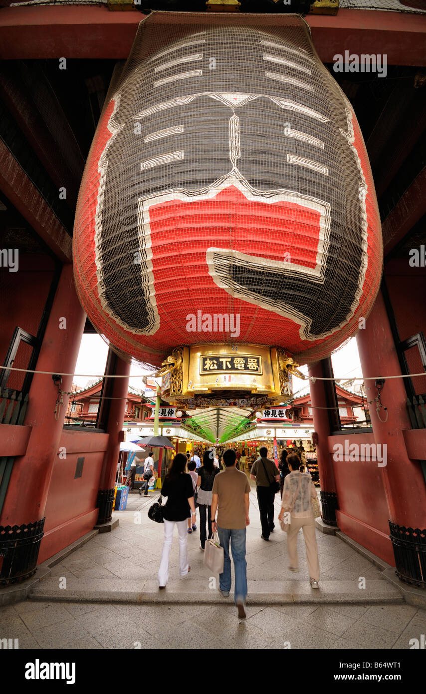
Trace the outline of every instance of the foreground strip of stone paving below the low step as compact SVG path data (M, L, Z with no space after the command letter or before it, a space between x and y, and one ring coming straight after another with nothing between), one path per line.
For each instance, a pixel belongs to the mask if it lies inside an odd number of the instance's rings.
M65 598L66 599L66 598ZM0 607L0 638L20 649L409 649L426 611L408 604L99 604L27 600Z

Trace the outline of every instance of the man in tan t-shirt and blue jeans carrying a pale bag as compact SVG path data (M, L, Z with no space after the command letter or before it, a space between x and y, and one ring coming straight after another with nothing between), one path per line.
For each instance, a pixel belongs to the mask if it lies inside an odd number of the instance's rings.
M247 475L236 468L235 450L231 448L225 450L223 463L225 470L214 477L212 498L212 532L217 530L224 553L223 573L219 574L219 589L223 597L228 598L231 589L229 554L229 543L231 543L235 567L235 604L239 618L244 619L247 597L246 526L250 523L248 518L250 484ZM218 505L219 514L216 523Z

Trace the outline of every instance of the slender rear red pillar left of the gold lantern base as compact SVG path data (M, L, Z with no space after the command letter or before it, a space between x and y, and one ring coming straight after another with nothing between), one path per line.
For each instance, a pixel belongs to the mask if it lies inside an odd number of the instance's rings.
M113 378L112 387L106 387L103 392L108 392L111 399L106 402L108 405L108 419L106 432L109 434L108 450L105 451L103 458L101 479L99 480L98 506L99 518L96 527L112 520L112 502L114 501L115 478L117 475L117 463L119 459L120 441L123 440L124 413L126 412L128 396L128 375L130 373L130 362L110 351L108 355L105 377L108 375L123 376L125 378ZM108 378L105 378L108 382ZM109 395L111 393L111 395Z

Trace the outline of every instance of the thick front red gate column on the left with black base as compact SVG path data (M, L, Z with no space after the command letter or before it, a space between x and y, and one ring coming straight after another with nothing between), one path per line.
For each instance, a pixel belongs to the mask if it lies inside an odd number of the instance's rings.
M36 371L74 373L85 319L85 312L74 289L72 265L65 264L46 325ZM72 378L72 375L62 377L60 387L63 391L71 391ZM63 396L64 404L55 418L58 388L48 374L34 374L28 396L24 424L32 427L31 436L26 455L15 459L0 517L2 526L27 526L22 532L22 539L17 539L16 546L19 548L19 543L22 543L22 550L15 550L16 561L12 559L12 566L8 569L10 582L35 573L44 527L44 509L68 404L68 397ZM32 541L28 543L30 537ZM21 568L18 564L21 564Z

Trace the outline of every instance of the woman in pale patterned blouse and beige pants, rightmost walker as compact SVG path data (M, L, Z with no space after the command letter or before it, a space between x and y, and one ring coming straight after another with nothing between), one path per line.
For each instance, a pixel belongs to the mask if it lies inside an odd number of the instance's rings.
M287 533L287 550L289 552L291 571L298 571L297 539L300 528L306 545L306 559L309 569L309 583L312 588L318 588L319 562L318 546L315 536L314 511L312 499L316 497L316 489L312 477L308 473L300 473L300 459L297 455L287 457L290 474L284 480L282 490L281 511L278 520L282 521L284 511L291 511L290 529Z

